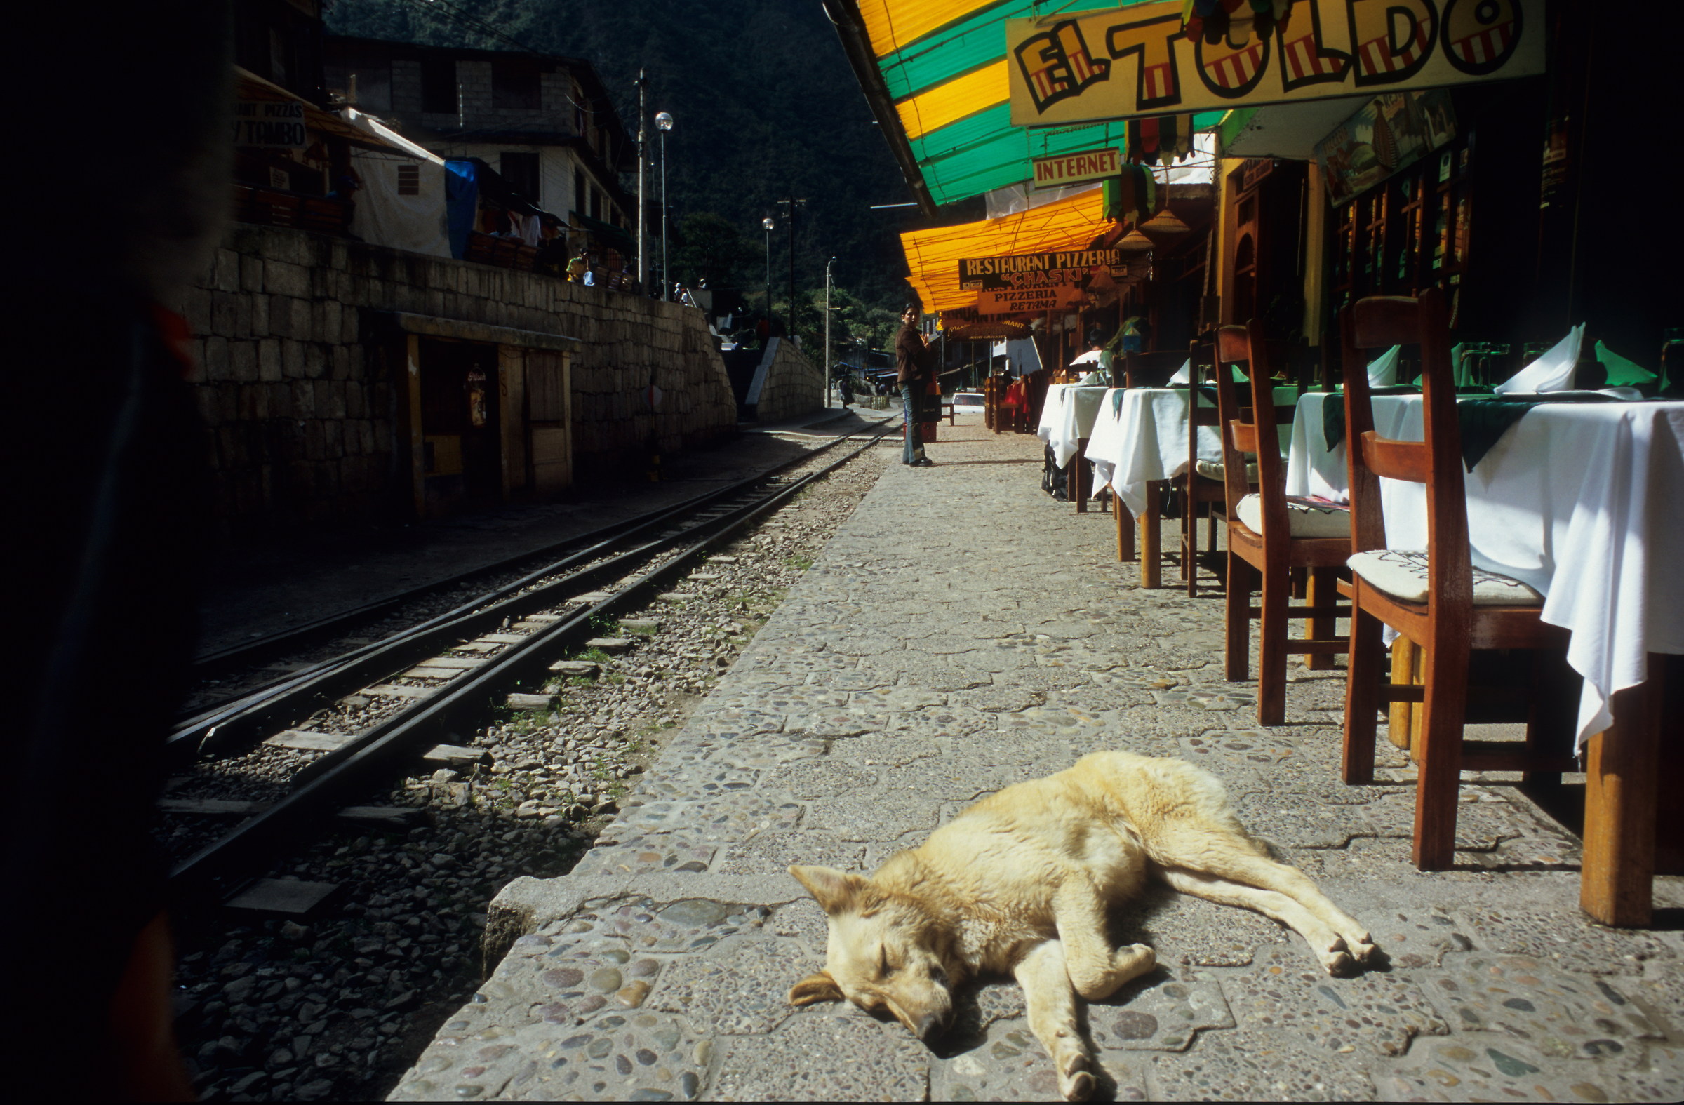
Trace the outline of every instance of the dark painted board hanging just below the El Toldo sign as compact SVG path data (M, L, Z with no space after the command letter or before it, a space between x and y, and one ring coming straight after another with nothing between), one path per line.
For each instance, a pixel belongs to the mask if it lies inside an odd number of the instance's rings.
M1457 136L1450 93L1384 93L1315 143L1327 197L1344 204Z

